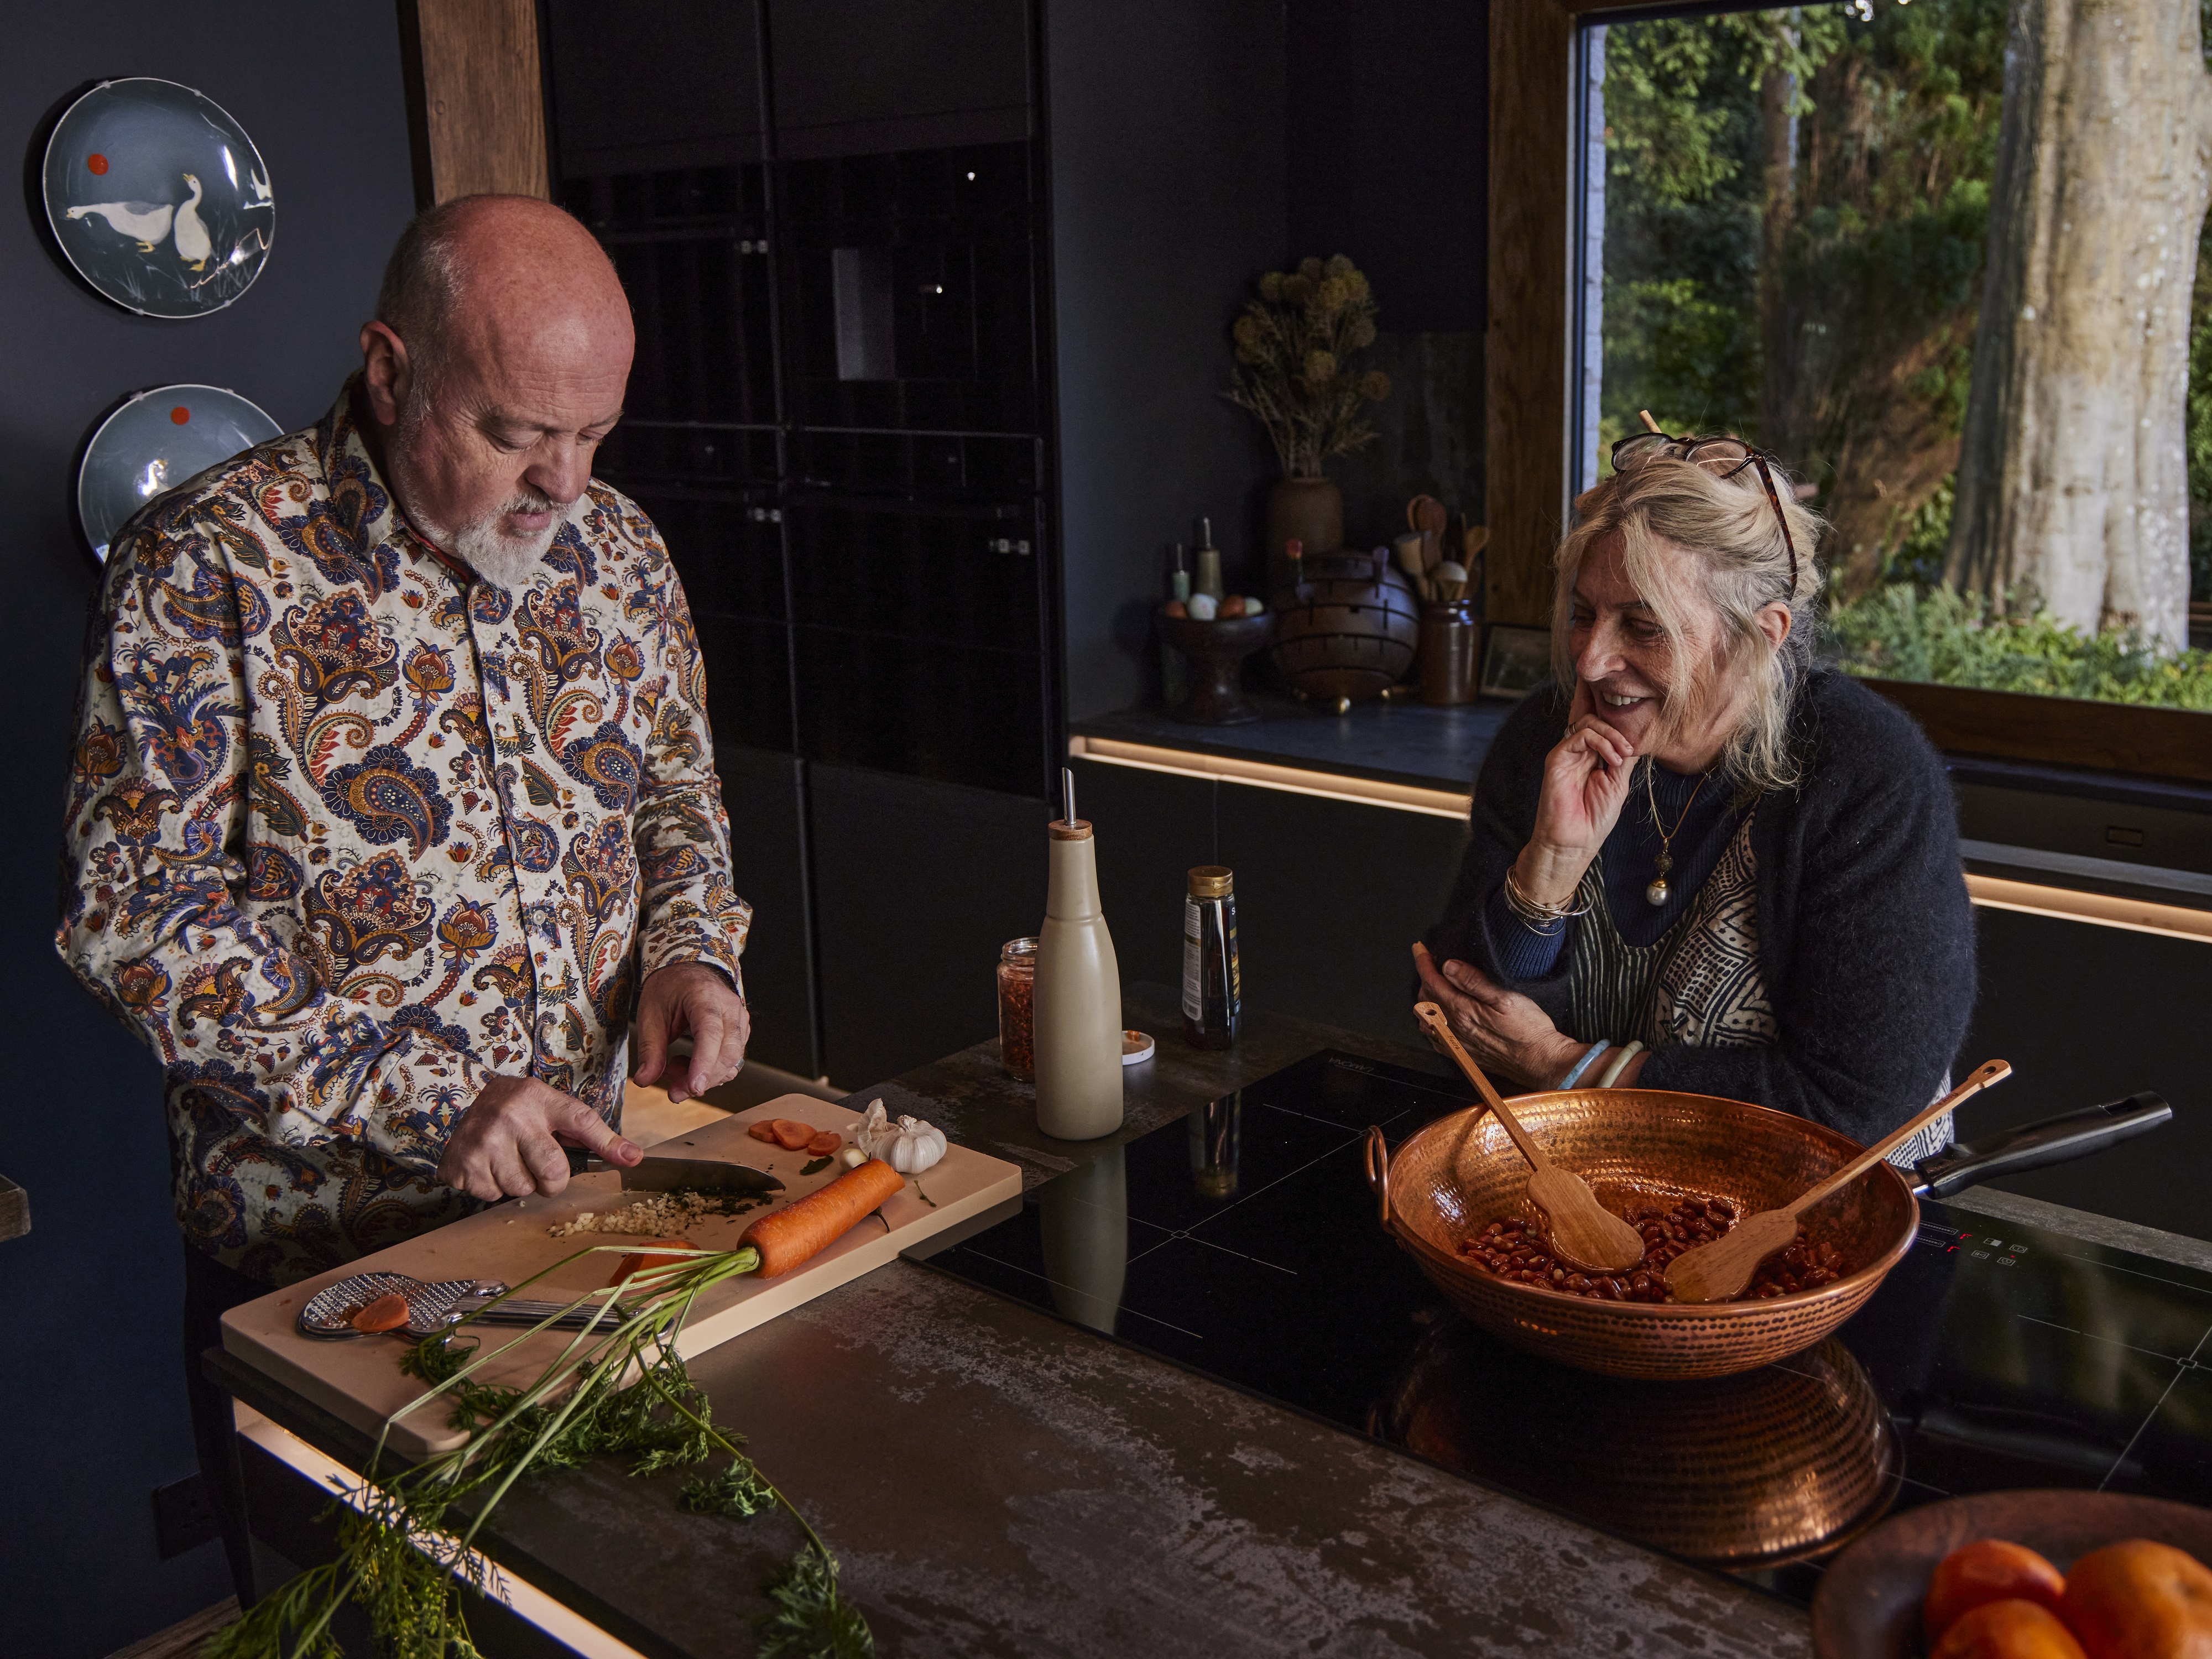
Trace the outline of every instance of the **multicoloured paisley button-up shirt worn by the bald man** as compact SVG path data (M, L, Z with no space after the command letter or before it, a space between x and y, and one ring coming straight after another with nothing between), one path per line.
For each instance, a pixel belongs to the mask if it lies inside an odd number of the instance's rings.
M613 1121L644 975L743 989L752 918L646 515L593 482L529 588L476 580L352 394L117 538L55 936L161 1055L186 1239L276 1283L473 1208L434 1170L493 1075Z

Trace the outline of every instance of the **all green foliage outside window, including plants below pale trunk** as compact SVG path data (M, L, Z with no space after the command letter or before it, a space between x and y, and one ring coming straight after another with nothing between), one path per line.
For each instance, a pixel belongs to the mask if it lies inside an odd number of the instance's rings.
M2212 0L2201 0L2212 42ZM2212 653L2088 639L1940 586L1951 538L2008 0L1659 18L1606 31L1601 445L1734 431L1818 487L1854 672L2212 710ZM1787 192L1772 195L1785 71ZM1774 223L1770 226L1770 215ZM1763 250L1781 281L1763 279ZM1772 361L1781 354L1781 361ZM1776 376L1770 385L1770 376ZM2190 332L2192 597L2212 597L2212 239Z

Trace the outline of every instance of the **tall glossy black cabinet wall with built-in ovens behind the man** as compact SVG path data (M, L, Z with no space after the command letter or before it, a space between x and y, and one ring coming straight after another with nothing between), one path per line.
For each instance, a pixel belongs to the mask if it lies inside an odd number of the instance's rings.
M542 15L555 195L637 319L597 473L690 602L754 1053L860 1086L989 1033L998 947L1044 907L1066 739L1031 2Z

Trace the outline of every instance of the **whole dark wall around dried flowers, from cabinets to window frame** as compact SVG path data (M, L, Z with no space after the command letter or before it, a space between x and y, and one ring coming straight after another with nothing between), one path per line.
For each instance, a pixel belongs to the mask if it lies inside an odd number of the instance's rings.
M1157 699L1166 546L1208 513L1256 582L1274 451L1221 398L1252 281L1374 281L1376 442L1329 462L1354 546L1482 502L1484 0L1046 0L1068 717Z

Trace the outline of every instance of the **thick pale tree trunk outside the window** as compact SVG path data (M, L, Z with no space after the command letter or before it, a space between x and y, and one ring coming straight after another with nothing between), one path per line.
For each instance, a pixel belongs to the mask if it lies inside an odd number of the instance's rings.
M2015 0L1944 580L2188 639L2199 0Z

